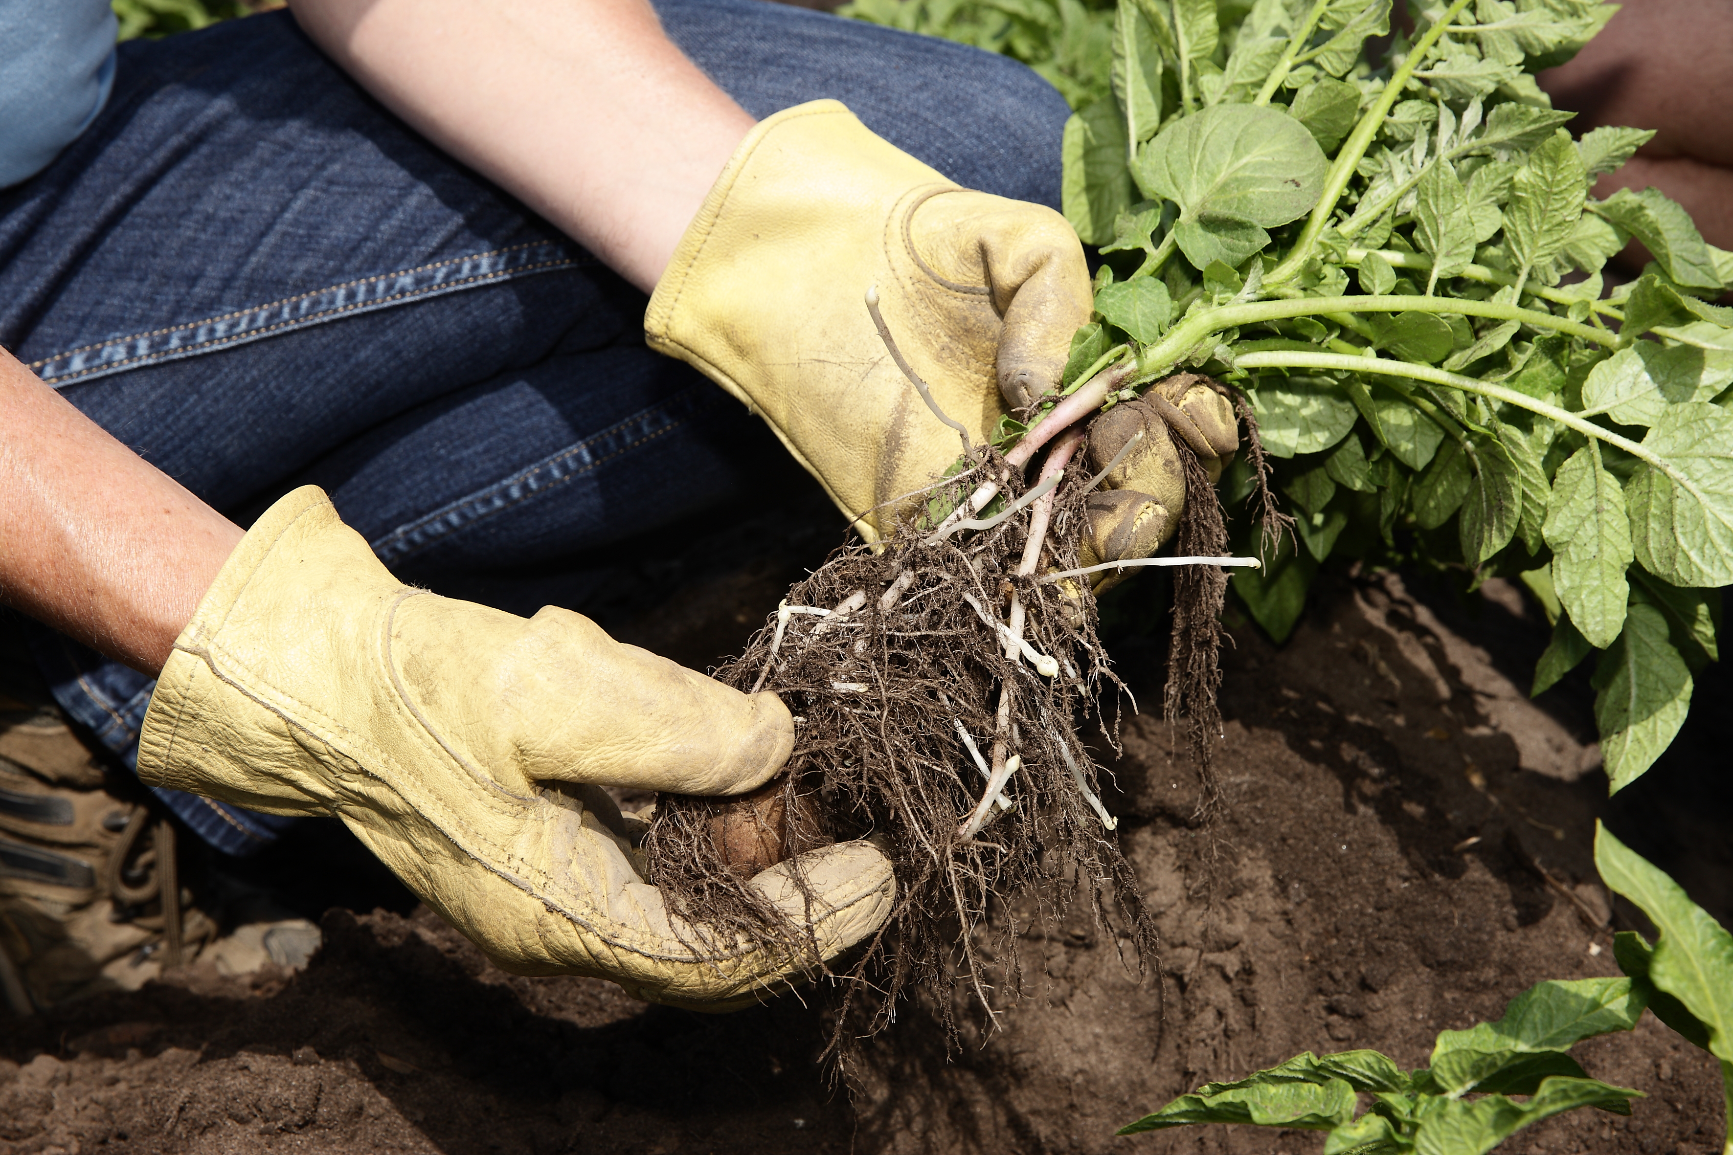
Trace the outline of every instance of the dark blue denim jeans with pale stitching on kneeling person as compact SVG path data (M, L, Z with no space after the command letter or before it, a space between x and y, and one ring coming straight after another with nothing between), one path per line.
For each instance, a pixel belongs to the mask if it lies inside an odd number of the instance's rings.
M763 0L657 10L754 116L835 97L958 184L1057 206L1068 109L1021 64ZM95 123L0 192L0 343L239 523L317 483L435 589L724 506L782 457L645 348L643 310L282 12L121 45ZM61 705L135 767L153 682L24 629ZM229 854L284 821L158 793Z

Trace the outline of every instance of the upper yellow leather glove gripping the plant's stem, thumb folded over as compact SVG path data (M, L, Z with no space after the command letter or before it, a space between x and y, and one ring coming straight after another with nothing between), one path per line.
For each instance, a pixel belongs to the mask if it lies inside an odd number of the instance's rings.
M962 452L886 353L872 286L976 445L1059 383L1092 303L1059 213L960 189L815 100L740 144L645 315L650 345L763 414L868 542Z

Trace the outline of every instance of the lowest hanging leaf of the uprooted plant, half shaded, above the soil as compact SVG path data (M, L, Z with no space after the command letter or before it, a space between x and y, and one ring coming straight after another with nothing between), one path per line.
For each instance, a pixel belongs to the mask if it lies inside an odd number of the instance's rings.
M1619 793L1655 764L1691 708L1691 672L1672 648L1667 618L1653 606L1631 604L1593 684L1601 758Z

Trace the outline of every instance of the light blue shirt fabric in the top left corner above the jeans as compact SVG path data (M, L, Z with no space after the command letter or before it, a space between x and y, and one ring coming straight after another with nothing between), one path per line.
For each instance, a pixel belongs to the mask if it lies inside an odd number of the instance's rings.
M107 0L0 0L0 189L78 139L114 83Z

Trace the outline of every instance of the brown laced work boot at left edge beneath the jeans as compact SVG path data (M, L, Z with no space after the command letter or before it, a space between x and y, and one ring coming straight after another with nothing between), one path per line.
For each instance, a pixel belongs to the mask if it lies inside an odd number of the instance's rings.
M170 819L137 784L116 793L33 698L0 691L0 994L17 1015L137 989L217 930L180 887Z

